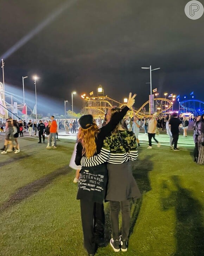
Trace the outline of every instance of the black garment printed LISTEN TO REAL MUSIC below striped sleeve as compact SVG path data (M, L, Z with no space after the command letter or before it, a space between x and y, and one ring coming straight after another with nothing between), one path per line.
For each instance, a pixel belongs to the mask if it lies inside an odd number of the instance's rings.
M106 164L82 167L78 183L78 200L103 203L106 195L108 171Z

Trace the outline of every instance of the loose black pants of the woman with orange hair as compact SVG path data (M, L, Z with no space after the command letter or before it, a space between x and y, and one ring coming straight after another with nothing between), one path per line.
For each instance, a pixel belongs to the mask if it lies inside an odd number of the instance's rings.
M84 247L88 254L95 254L97 238L104 238L105 214L103 204L80 200L84 234Z

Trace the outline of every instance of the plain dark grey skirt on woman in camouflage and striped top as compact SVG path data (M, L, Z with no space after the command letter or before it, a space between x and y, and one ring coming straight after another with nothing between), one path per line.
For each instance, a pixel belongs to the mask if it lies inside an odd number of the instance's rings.
M125 201L130 198L141 197L138 185L133 177L130 162L121 164L107 164L108 168L108 187L107 201Z

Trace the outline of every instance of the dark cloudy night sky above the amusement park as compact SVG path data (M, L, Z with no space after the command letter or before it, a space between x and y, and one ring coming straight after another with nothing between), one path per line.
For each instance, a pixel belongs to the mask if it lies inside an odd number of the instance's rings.
M66 2L71 1L1 1L1 57ZM187 2L74 0L4 59L5 83L21 89L22 76L28 76L25 88L34 93L31 78L37 74L38 96L61 102L62 113L71 91L78 93L74 96L78 112L80 95L99 84L105 94L120 101L129 91L137 93L135 107L139 108L150 90L149 71L141 67L152 65L161 68L152 72L153 88L160 94L167 91L182 99L194 91L196 99L204 100L204 15L198 20L187 18ZM39 113L47 108L49 113L60 112L52 104L40 103L39 108Z

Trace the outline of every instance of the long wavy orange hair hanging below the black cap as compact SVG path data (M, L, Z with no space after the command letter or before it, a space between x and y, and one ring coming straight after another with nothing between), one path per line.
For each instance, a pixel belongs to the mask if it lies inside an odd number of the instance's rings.
M89 125L87 124L87 126ZM90 158L96 153L95 139L99 132L100 130L95 122L88 129L79 128L78 142L81 142L83 147L82 155Z

